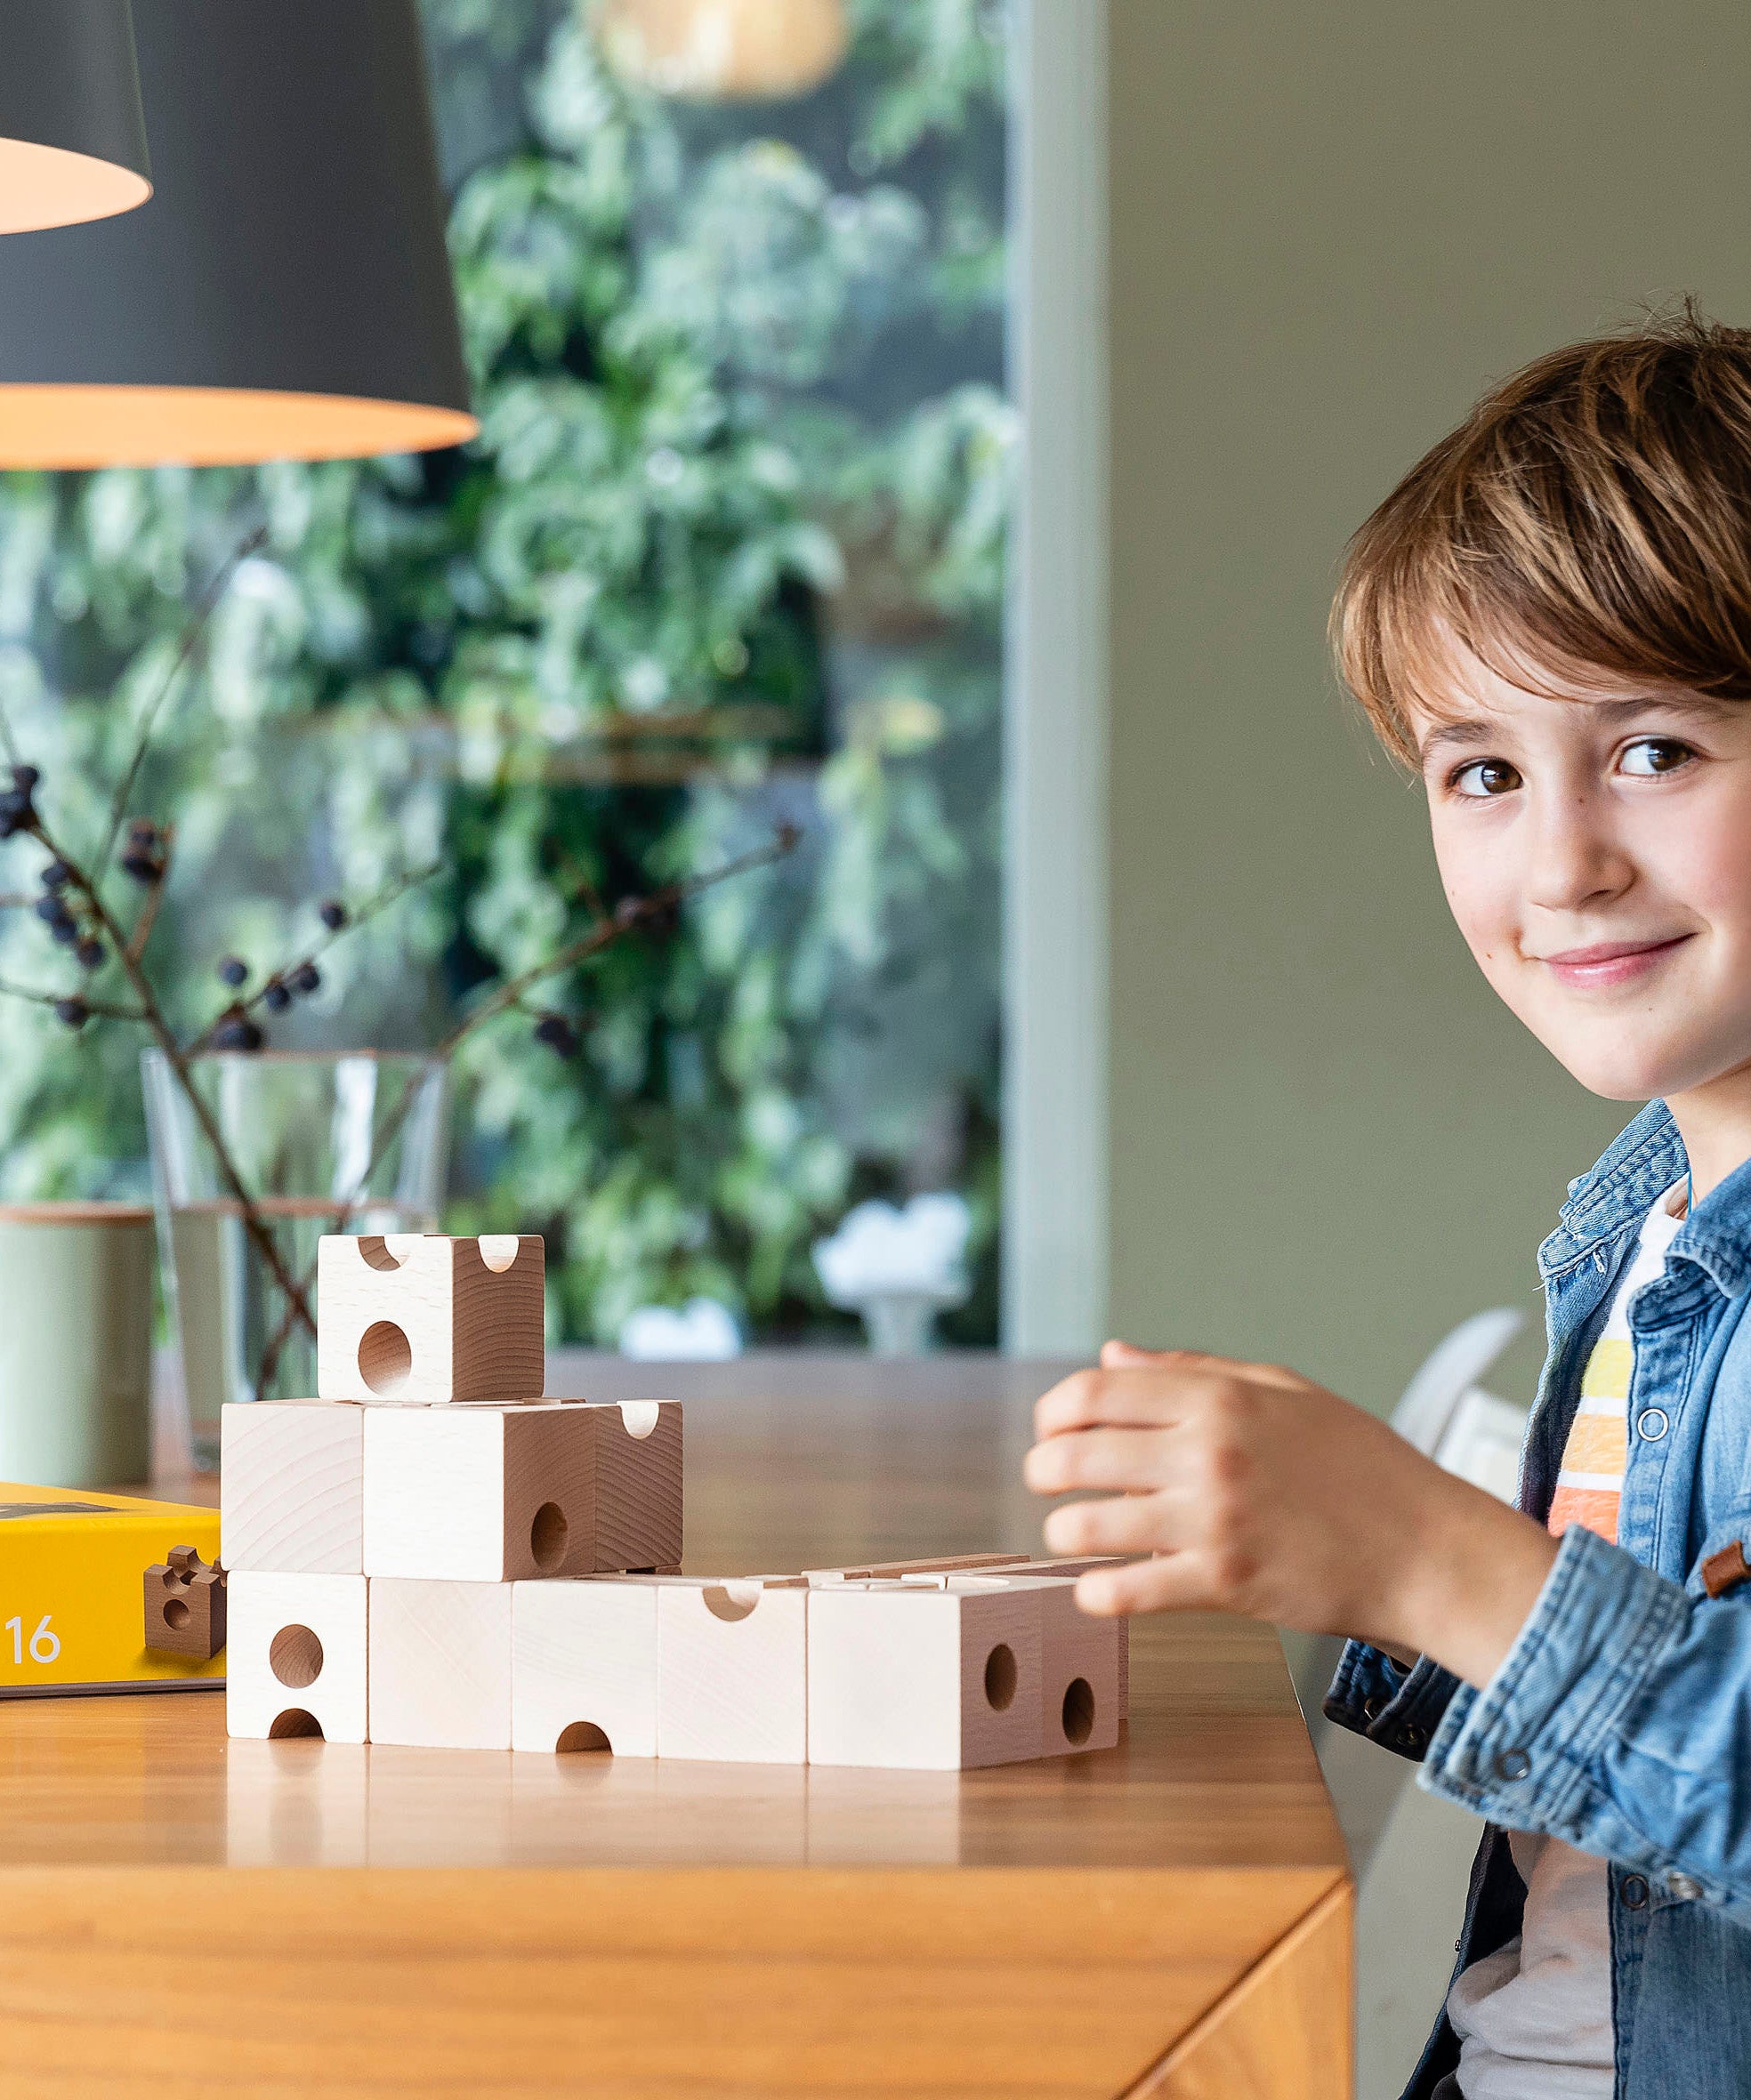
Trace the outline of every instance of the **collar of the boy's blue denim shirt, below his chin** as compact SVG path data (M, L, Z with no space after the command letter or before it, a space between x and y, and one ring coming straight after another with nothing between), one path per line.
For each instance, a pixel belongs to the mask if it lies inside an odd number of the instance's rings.
M1650 1100L1606 1147L1598 1166L1568 1184L1558 1226L1539 1247L1545 1283L1638 1228L1686 1166L1671 1111L1663 1100ZM1751 1159L1703 1197L1667 1256L1694 1262L1728 1298L1751 1287Z

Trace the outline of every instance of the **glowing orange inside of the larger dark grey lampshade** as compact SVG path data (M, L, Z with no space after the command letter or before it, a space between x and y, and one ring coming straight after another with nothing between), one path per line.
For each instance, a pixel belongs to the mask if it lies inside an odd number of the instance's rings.
M0 468L250 466L430 452L479 430L464 410L231 386L0 382Z

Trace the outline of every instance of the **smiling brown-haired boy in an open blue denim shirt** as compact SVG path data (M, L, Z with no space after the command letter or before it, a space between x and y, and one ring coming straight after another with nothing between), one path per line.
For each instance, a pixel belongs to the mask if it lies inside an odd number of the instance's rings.
M1751 332L1539 359L1354 538L1342 672L1453 916L1652 1098L1539 1250L1520 1508L1277 1365L1109 1342L1027 1480L1096 1613L1344 1632L1327 1714L1489 1819L1407 2100L1751 2094ZM1512 1138L1505 1138L1512 1142Z

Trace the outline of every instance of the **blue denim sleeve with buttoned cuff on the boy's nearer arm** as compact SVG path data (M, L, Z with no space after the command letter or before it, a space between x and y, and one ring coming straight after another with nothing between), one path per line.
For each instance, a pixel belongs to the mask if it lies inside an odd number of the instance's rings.
M1751 1592L1747 1592L1751 1596ZM1751 1609L1692 1598L1570 1525L1482 1690L1461 1684L1419 1774L1751 1924Z

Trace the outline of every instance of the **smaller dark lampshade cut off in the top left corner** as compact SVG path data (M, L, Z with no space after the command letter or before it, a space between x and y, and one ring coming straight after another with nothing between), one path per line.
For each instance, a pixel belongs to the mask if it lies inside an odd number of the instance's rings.
M149 195L128 0L0 0L0 233Z

